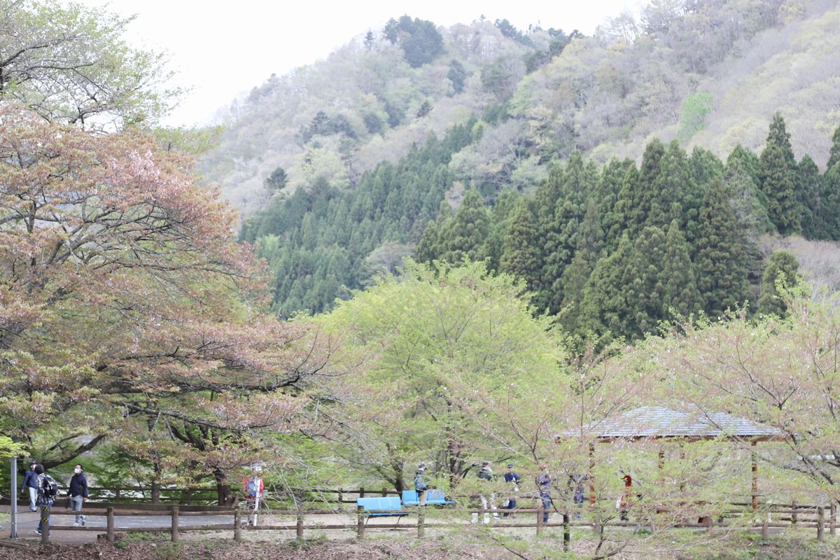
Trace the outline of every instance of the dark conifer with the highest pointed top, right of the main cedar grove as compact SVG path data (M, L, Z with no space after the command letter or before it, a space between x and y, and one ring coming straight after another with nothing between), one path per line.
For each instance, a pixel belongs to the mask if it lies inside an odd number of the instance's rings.
M800 198L796 190L796 160L781 113L773 116L767 145L759 157L761 190L767 196L770 221L782 235L801 231Z

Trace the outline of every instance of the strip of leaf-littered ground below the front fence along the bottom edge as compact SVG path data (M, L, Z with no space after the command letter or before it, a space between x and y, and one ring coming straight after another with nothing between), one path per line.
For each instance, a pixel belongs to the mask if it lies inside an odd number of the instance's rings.
M191 534L179 543L165 535L137 533L123 536L116 544L90 543L81 547L50 546L11 550L0 547L4 560L349 560L399 558L420 560L484 560L522 558L527 560L583 560L596 555L598 539L592 531L572 534L571 552L562 552L562 534L546 531L533 535L501 534L482 527L457 533L438 534L418 540L412 533L388 531L372 534L363 541L321 536L303 542L290 541L276 532L248 534L236 543L211 535ZM762 541L757 534L738 532L707 534L696 531L668 531L662 536L627 532L608 536L600 553L615 552L616 560L838 560L840 538L819 543L811 534L774 535Z

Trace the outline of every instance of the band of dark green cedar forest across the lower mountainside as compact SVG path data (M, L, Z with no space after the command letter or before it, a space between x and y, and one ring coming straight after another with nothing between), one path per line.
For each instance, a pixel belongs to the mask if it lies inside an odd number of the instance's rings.
M599 167L574 153L534 196L470 189L453 212L445 195L457 177L447 164L479 140L473 125L378 165L355 189L318 181L249 218L242 237L276 275L277 311L328 310L416 247L421 261L486 260L515 275L537 311L571 332L635 339L675 314L717 317L745 301L770 311L762 290L798 264L767 262L762 233L840 239L840 128L825 173L808 155L795 160L777 113L760 154L738 146L723 162L658 139L638 166Z

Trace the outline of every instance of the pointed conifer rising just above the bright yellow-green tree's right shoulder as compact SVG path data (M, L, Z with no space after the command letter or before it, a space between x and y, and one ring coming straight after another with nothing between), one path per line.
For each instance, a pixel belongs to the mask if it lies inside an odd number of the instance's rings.
M537 220L528 199L517 200L513 215L505 230L500 268L525 280L528 290L536 290L543 270Z

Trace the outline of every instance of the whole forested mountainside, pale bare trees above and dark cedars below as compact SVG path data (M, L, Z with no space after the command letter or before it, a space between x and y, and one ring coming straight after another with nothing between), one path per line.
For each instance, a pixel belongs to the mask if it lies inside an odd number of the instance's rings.
M403 17L255 89L205 168L264 207L242 237L282 314L327 309L415 247L488 259L581 333L755 310L795 275L768 260L774 236L840 238L838 18L659 0L583 37Z

